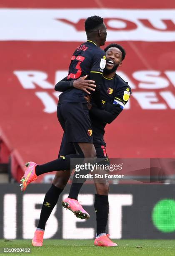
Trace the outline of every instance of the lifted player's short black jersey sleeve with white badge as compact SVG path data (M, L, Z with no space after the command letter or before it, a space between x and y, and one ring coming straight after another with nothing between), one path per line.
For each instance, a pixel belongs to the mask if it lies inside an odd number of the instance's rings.
M104 51L97 52L93 56L90 73L100 73L102 75L105 65L106 65L105 52Z

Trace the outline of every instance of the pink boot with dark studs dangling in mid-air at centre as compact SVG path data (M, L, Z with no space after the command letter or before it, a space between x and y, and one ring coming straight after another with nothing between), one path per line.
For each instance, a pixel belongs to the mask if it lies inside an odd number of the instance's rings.
M77 218L80 218L82 220L87 220L90 218L89 213L87 213L80 203L72 198L67 197L65 200L62 201L62 206L72 212L74 212L75 216Z

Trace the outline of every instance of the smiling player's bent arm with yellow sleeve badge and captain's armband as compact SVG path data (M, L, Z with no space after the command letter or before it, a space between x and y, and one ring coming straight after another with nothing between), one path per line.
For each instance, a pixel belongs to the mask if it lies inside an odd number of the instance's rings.
M112 123L115 118L122 112L126 103L129 100L131 94L131 89L129 86L122 88L115 95L114 101L112 104L106 103L105 110L100 110L95 106L92 106L90 109L90 113L106 123Z

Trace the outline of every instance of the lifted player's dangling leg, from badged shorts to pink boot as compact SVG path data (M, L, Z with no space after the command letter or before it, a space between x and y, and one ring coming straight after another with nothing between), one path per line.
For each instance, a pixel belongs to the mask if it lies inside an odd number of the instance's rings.
M81 111L77 111L77 116L74 120L76 130L72 131L74 132L74 146L77 153L84 156L84 164L87 162L87 160L90 161L90 163L94 163L96 159L96 151L92 143L92 128L89 118L89 111L86 104L81 104L80 107ZM89 172L89 169L83 169L80 170L78 174L85 175ZM67 204L69 204L69 210L72 210L78 218L89 218L89 214L82 208L80 203L77 201L80 189L86 179L78 179L75 176L76 174L77 173L75 172L69 196L65 200L63 200L62 205L63 207L67 207Z

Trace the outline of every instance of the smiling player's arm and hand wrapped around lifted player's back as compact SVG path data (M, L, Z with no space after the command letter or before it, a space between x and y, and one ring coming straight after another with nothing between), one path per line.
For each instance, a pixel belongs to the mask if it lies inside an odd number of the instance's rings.
M90 92L87 91L87 89L90 91L95 91L96 85L94 84L93 80L85 80L86 77L87 75L84 77L80 77L77 80L71 81L67 80L67 77L65 77L55 85L55 91L64 92L68 89L76 88L87 92L87 94L90 94Z

